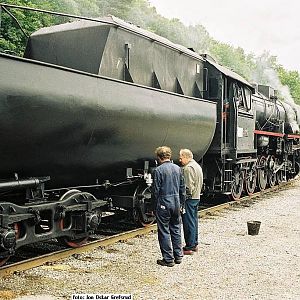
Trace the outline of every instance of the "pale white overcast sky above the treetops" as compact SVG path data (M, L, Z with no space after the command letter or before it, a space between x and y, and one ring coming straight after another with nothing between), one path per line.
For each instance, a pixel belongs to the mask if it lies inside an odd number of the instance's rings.
M216 40L277 56L300 71L299 0L149 0L157 12L186 25L202 24Z

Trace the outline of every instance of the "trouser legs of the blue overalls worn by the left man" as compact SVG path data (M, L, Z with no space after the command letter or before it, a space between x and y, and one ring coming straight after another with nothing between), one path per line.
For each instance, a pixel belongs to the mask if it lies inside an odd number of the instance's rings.
M178 197L177 197L178 198ZM166 262L181 258L181 216L179 199L160 199L156 208L158 242Z

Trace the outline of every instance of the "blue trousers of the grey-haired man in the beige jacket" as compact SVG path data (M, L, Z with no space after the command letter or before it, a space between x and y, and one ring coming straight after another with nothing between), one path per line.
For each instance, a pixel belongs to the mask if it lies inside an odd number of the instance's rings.
M182 215L185 250L193 250L198 245L198 205L199 199L185 201L185 213Z

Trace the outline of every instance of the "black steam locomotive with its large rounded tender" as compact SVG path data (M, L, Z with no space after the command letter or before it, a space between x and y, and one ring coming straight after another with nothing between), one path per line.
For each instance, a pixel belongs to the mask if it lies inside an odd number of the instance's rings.
M0 74L1 264L37 241L79 247L103 211L151 224L160 145L193 151L204 197L299 171L296 105L112 16L34 32L24 57L0 53Z

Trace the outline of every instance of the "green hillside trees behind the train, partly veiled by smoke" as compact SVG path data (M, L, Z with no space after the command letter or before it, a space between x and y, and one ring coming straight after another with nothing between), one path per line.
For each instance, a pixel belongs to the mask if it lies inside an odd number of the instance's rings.
M1 0L0 0L1 1ZM300 75L285 70L276 57L265 52L260 56L246 54L238 47L214 40L200 25L185 26L179 19L167 19L156 12L147 0L4 0L7 4L29 6L87 17L115 15L142 28L168 38L174 43L193 48L198 53L212 55L220 64L244 76L250 82L269 84L275 88L289 87L293 98L300 103ZM18 19L24 32L69 21L52 15L9 9ZM18 24L4 11L1 14L0 50L21 55L26 36Z

